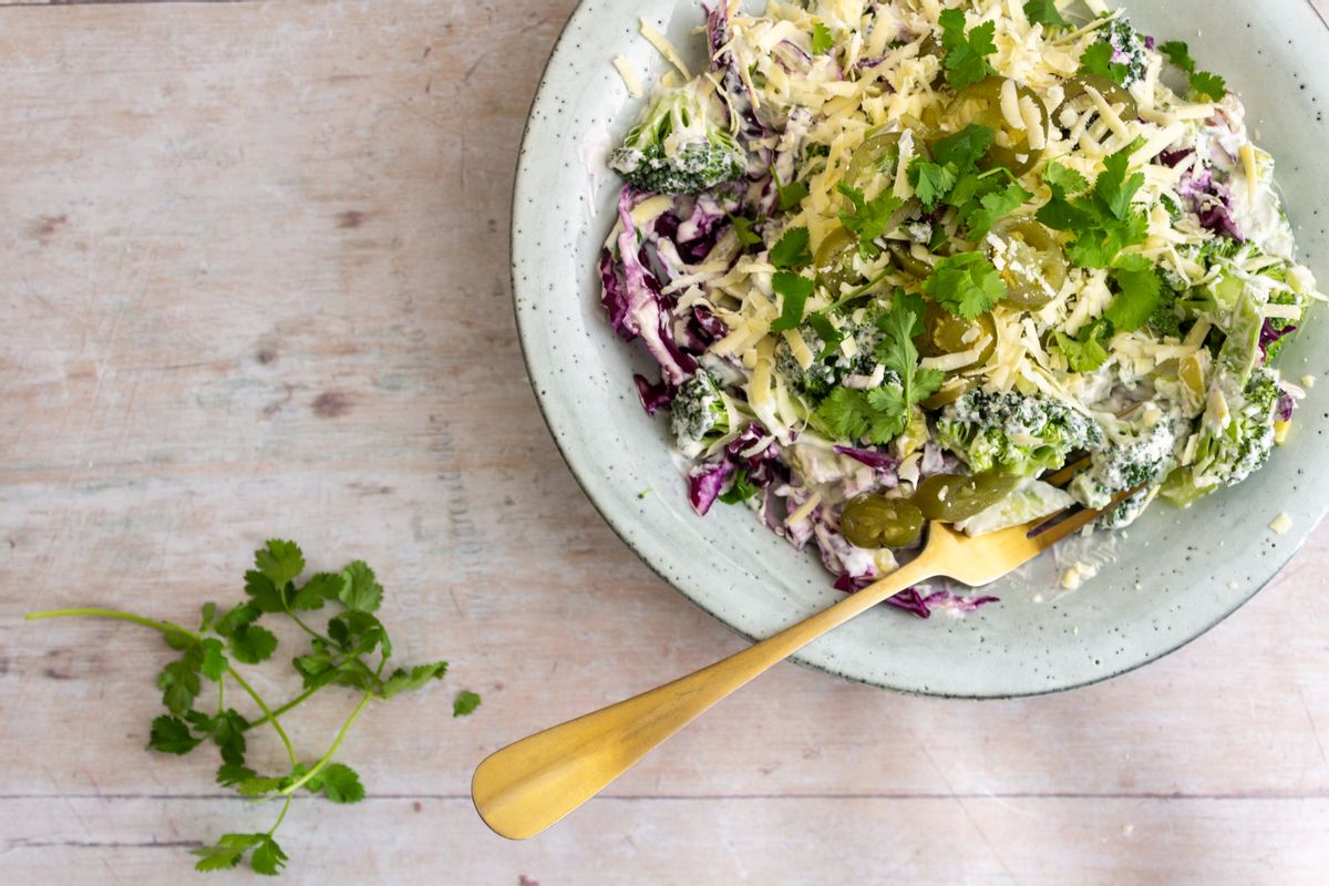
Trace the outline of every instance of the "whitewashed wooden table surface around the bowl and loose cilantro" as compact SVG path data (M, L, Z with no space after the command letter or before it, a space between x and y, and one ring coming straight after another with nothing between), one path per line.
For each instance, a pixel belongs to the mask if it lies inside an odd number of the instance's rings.
M0 5L0 882L191 883L189 849L267 826L144 751L155 635L21 615L189 620L270 535L369 561L403 654L455 663L351 733L368 800L295 804L288 882L1326 882L1329 527L1110 684L974 704L785 665L545 837L484 828L486 752L740 647L586 502L518 353L512 170L573 5Z

